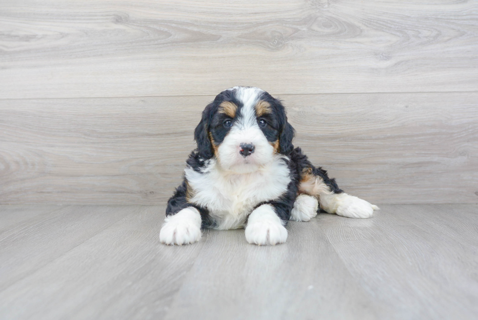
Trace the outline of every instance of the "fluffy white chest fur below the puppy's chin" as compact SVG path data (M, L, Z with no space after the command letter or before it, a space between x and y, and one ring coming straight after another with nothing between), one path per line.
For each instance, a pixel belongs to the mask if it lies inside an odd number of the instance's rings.
M189 201L206 207L217 229L241 228L255 206L287 191L290 172L281 158L276 156L269 166L252 173L224 171L214 159L202 172L186 168L186 179L193 191Z

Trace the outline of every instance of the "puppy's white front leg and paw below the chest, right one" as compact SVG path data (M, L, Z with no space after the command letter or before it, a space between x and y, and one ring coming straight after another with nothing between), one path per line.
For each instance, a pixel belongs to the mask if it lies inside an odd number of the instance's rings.
M287 240L287 230L271 205L254 210L245 229L247 242L257 245L276 245Z

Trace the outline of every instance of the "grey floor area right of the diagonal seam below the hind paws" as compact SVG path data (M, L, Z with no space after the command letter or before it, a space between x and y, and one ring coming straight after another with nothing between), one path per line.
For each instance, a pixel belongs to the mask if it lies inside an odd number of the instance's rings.
M380 318L475 319L476 232L470 236L461 231L477 230L478 207L459 208L382 206L370 220L339 218L338 223L334 216L324 214L316 222L368 294L379 305L395 306L393 317ZM441 230L435 227L444 216L448 221L461 221L459 235L447 235L452 229L445 227L446 222Z

